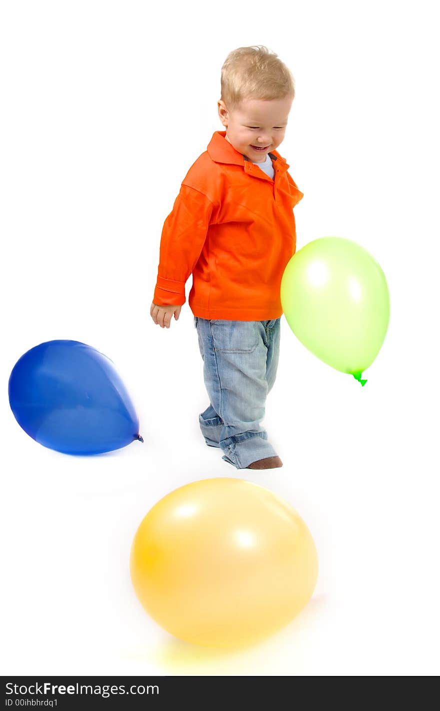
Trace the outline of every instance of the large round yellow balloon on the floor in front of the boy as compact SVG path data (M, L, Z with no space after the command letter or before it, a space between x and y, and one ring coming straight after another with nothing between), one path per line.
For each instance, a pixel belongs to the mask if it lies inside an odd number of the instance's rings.
M168 493L134 537L132 583L168 632L211 647L254 643L311 598L316 547L274 493L242 479L203 479Z

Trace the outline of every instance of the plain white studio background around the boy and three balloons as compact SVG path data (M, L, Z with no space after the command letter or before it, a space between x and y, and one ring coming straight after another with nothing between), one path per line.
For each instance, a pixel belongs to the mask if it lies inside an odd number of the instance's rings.
M428 675L439 671L439 112L434 2L1 5L1 611L7 674ZM205 447L188 304L149 308L159 240L215 130L227 53L264 44L296 80L279 152L304 192L298 248L359 242L392 315L360 387L284 318L264 425L284 467L246 470L291 503L320 576L266 643L215 653L149 619L129 579L141 519L190 481L238 476ZM191 279L187 284L187 294ZM29 348L114 360L144 445L75 458L28 437L7 382ZM235 474L234 474L235 472Z

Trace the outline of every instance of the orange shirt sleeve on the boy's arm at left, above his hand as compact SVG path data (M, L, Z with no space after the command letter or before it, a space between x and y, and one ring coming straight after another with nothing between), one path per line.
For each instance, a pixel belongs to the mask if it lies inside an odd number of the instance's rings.
M181 185L173 210L163 223L153 303L181 306L185 284L203 249L213 203L195 188Z

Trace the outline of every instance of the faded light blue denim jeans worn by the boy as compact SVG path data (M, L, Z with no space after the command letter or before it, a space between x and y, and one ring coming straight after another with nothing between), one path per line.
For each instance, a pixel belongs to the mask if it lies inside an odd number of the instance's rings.
M277 456L260 427L279 358L281 319L224 321L194 317L210 405L199 415L205 442L237 469Z

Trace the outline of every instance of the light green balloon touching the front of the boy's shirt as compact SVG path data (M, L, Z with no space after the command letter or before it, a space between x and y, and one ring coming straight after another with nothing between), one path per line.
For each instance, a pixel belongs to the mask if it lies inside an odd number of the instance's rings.
M390 294L379 264L343 237L313 240L291 257L281 304L296 338L362 385L390 321Z

